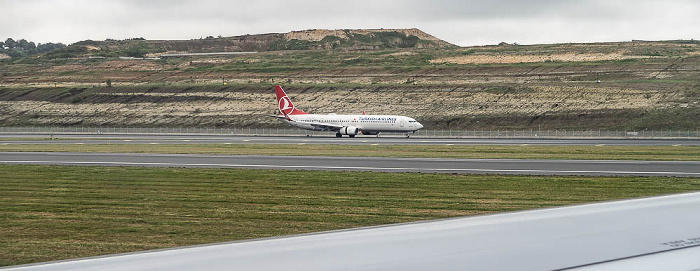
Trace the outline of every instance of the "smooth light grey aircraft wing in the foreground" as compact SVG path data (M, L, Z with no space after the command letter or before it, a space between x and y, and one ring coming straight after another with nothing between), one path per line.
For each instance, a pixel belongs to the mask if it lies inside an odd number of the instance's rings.
M8 270L698 270L699 214L689 193Z

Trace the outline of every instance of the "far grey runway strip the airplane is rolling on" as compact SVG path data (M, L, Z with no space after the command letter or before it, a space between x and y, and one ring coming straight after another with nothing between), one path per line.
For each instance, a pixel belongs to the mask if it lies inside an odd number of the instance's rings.
M53 138L53 140L43 140ZM11 144L331 144L331 145L553 145L553 146L700 146L692 139L501 139L403 138L358 136L222 136L222 135L37 135L2 134Z

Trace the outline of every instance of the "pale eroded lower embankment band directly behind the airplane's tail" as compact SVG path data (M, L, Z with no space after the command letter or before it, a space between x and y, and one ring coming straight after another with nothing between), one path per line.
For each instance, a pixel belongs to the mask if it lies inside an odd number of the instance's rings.
M597 85L287 90L310 113L409 115L432 129L626 128L654 110L677 110L673 101L684 99ZM621 112L630 119L618 119ZM0 90L0 113L0 125L281 127L266 116L275 113L272 88L245 86Z

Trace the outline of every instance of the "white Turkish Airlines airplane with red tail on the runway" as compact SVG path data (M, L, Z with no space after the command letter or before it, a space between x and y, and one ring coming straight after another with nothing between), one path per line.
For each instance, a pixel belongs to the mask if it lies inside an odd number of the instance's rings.
M420 122L406 116L308 114L294 106L281 86L275 86L275 93L279 115L271 117L301 129L334 131L336 137L355 137L358 134L379 136L381 132L394 132L404 133L408 138L410 134L423 128Z

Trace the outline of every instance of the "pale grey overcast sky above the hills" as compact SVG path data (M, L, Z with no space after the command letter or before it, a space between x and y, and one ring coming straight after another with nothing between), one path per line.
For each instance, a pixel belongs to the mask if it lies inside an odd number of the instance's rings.
M0 39L144 37L419 28L487 45L700 39L697 0L0 0Z

